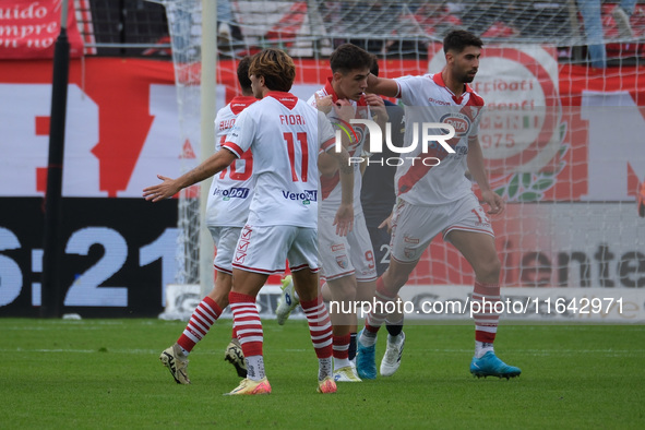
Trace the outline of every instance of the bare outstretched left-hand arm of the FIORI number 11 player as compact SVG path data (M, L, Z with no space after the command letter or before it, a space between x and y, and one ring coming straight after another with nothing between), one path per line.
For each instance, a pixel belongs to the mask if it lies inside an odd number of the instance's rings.
M216 175L219 171L224 170L235 159L236 156L234 153L226 148L222 148L215 154L211 155L198 167L190 171L187 171L177 179L157 175L157 178L163 180L163 182L156 186L144 188L143 196L145 200L152 200L153 202L158 202L159 200L171 198L182 189L190 187L194 183L201 182L204 179L210 178L213 175Z

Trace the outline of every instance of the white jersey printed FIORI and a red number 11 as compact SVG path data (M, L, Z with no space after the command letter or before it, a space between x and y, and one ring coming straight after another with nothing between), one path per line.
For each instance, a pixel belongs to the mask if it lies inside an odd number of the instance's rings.
M223 147L253 152L249 225L318 227L318 153L334 138L324 115L290 93L270 92L240 114Z

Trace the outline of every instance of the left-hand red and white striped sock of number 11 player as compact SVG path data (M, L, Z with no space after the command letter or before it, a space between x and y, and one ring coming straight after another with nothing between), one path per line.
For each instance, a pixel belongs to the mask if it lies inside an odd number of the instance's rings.
M228 301L232 311L232 327L237 332L244 357L261 356L264 336L255 298L230 291Z

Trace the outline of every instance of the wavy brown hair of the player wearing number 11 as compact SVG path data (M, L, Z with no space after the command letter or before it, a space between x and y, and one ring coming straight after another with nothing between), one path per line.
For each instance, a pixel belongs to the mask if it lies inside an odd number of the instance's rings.
M285 51L266 48L253 56L249 74L264 76L268 89L288 92L296 80L296 64Z

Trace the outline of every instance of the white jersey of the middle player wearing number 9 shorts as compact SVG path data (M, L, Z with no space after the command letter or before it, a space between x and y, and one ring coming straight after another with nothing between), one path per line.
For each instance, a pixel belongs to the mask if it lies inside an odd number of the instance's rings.
M333 101L338 99L334 87L332 86L332 79L327 77L327 83L325 86L315 92L319 97L324 97L327 95L332 96ZM355 117L357 119L371 119L369 107L365 100L365 97L361 97L358 101L349 100L351 106L355 110ZM307 100L309 105L313 108L316 108L315 105L315 95L312 95L309 100ZM331 121L332 126L336 129L345 128L348 130L351 128L354 133L351 133L351 143L347 148L347 153L350 157L358 157L362 153L362 147L366 142L368 135L368 129L363 124L343 124L343 120L338 118L335 110L332 109L327 114L327 119ZM356 136L355 136L356 133ZM354 214L358 215L362 213L362 207L360 204L360 189L362 186L362 176L360 175L360 165L358 163L353 164L354 167ZM341 176L339 172L336 172L333 177L327 178L323 177L320 179L320 190L322 194L322 202L321 202L321 212L327 215L335 214L336 210L341 205L342 201L342 193L341 193Z

